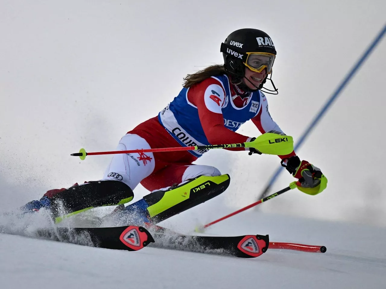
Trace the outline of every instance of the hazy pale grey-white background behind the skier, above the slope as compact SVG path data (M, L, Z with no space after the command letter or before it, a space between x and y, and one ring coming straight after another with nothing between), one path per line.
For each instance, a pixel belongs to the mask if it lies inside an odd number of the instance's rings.
M173 100L186 74L221 64L221 42L240 28L273 39L279 95L268 95L270 112L296 140L385 15L381 0L2 0L0 208L101 178L110 156L80 162L69 154L114 150L122 135ZM288 192L262 210L386 225L385 51L383 40L297 151L322 169L327 190L315 197ZM259 134L252 123L238 132ZM256 200L279 158L213 151L198 163L230 173L229 189L211 202L236 209ZM283 173L274 190L290 181Z

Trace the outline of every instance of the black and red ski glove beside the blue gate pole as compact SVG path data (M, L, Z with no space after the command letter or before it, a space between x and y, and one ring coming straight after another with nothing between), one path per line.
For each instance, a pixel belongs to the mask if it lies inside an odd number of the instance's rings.
M320 185L322 171L316 166L313 166L308 161L300 161L298 156L291 156L281 161L294 178L298 179L296 185L302 188L315 188Z

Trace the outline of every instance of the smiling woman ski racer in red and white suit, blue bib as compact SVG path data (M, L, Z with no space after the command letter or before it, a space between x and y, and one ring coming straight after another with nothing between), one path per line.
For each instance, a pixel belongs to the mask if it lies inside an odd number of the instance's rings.
M261 92L276 57L271 37L257 29L236 30L221 44L220 52L223 65L186 76L178 96L158 116L125 134L117 150L244 143L254 138L235 131L250 119L261 133L284 135L271 118L266 96ZM63 208L74 214L90 207L127 203L141 183L151 193L126 207L118 206L113 215L127 222L157 223L228 187L229 175L221 175L213 166L192 164L205 152L117 154L101 180L50 190L23 209L30 212L46 208L61 220ZM250 148L252 153L260 152ZM280 158L303 189L320 184L321 171L308 161L300 161L295 152Z

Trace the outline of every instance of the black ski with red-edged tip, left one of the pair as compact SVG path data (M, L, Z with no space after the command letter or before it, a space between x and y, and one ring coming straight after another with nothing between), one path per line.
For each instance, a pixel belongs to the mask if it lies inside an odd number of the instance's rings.
M137 251L154 242L152 235L143 227L125 226L110 228L38 229L36 237L72 244L107 249Z

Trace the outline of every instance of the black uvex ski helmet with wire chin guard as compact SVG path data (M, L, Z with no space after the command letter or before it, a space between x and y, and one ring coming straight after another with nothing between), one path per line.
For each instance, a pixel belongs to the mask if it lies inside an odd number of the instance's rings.
M235 83L240 83L244 77L247 52L264 52L276 55L276 49L271 37L264 31L251 28L239 29L229 34L221 44L220 52L224 57L225 71L232 76ZM266 79L267 77L258 89L262 88Z

